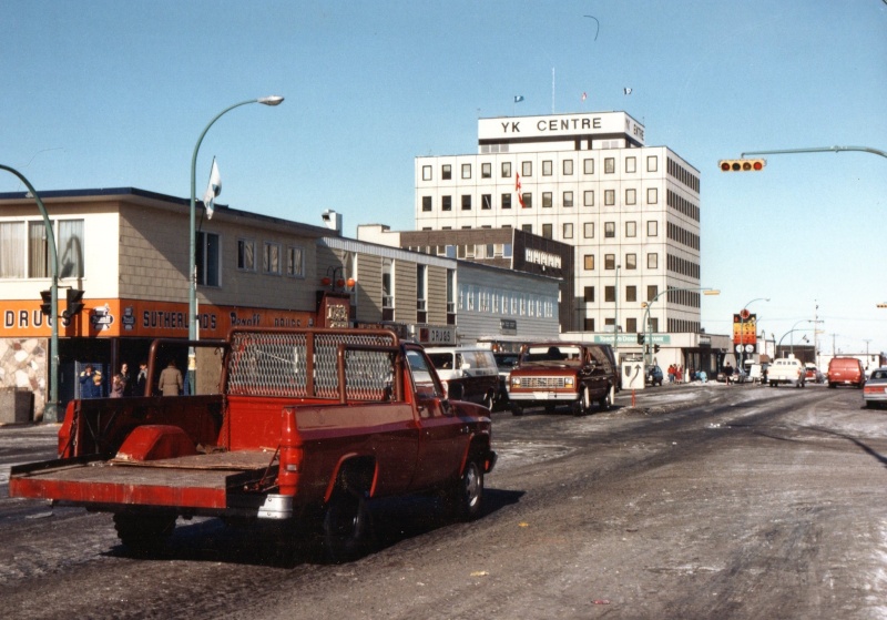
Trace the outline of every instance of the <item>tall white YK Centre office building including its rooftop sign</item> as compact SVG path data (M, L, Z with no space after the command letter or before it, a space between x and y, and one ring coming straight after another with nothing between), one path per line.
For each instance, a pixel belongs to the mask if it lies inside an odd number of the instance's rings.
M513 227L575 247L578 332L697 334L700 173L624 112L480 119L477 153L419 156L416 228ZM670 338L669 338L670 339Z

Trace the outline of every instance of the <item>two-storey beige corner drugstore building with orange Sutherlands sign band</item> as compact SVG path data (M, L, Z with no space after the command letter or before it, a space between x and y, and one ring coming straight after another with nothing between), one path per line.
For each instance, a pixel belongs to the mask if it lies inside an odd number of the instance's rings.
M79 396L78 373L100 369L103 394L121 365L133 375L154 338L188 336L188 201L137 190L45 192L58 255L59 314L65 292L84 308L59 317L60 405ZM51 286L45 226L34 200L0 194L0 386L49 390ZM198 337L237 325L313 325L315 243L329 231L216 205L197 233ZM184 368L186 359L177 359Z

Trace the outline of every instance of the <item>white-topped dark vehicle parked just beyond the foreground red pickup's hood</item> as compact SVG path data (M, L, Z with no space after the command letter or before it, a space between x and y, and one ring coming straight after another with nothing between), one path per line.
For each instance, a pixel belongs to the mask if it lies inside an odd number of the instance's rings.
M447 398L492 409L499 392L499 368L490 349L427 347L425 352L447 389Z

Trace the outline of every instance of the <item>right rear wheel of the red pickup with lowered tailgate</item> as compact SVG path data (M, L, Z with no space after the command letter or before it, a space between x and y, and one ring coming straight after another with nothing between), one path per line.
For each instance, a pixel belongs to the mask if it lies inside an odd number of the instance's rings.
M324 510L324 549L335 563L349 562L366 553L369 547L370 518L366 501L341 488Z

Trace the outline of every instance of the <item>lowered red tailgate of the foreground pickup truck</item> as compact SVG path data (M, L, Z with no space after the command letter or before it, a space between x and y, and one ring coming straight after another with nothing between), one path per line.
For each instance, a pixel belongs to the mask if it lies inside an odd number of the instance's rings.
M243 497L244 491L263 478L274 479L276 470L274 450L238 450L150 461L81 457L12 467L9 495L86 507L224 510L232 507L233 497Z

